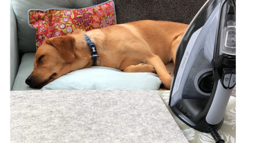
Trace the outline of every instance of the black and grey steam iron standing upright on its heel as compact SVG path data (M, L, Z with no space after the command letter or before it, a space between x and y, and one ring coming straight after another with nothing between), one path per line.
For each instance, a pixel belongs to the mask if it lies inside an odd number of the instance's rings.
M223 142L217 130L238 84L236 11L235 0L205 2L179 43L170 88L174 114L216 142Z

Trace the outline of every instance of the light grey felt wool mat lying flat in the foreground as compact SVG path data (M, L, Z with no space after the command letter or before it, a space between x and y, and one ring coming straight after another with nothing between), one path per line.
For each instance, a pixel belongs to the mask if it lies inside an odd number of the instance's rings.
M8 91L9 142L188 142L153 90Z

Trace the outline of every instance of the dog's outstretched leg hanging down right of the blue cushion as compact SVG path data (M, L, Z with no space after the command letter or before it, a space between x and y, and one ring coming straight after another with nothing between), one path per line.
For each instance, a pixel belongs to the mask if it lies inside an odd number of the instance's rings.
M147 64L153 65L154 69L156 69L156 74L158 74L163 85L167 89L170 89L172 83L172 76L167 72L165 64L163 63L161 58L159 58L159 56L157 55L152 56L152 58L147 61Z

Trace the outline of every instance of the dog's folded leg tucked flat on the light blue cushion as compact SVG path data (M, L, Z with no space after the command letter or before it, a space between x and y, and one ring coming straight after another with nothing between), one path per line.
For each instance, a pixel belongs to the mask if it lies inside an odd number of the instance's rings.
M152 72L156 74L156 70L153 65L148 65L144 63L140 63L138 65L130 65L126 67L123 72Z

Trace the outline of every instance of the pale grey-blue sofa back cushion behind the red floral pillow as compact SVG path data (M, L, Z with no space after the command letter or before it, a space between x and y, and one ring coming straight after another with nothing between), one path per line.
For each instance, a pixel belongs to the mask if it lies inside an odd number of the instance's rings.
M35 30L28 25L28 10L48 8L86 8L93 5L91 0L12 0L13 10L17 19L19 52L35 52Z

